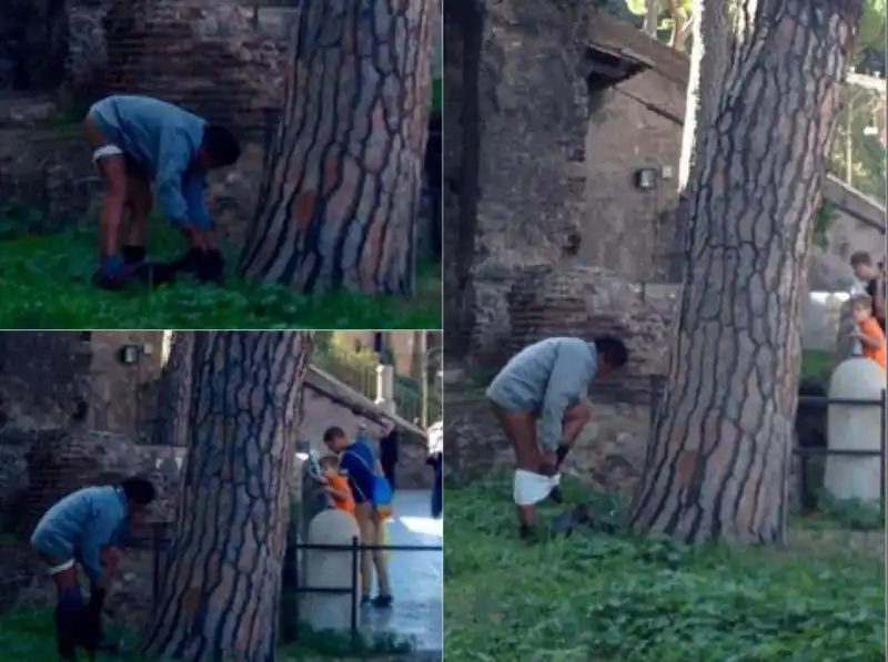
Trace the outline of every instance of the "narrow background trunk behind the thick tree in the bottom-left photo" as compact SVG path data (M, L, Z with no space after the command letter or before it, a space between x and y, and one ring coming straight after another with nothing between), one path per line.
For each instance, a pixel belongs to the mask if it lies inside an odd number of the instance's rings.
M170 354L163 366L158 394L158 419L153 442L188 445L194 364L194 332L169 332Z

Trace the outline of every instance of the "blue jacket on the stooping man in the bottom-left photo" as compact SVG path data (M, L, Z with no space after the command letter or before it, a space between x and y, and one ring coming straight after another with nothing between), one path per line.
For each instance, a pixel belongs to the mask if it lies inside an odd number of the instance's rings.
M94 581L103 572L99 551L118 544L128 510L127 496L119 486L83 488L64 497L40 518L31 544L44 554L80 561Z

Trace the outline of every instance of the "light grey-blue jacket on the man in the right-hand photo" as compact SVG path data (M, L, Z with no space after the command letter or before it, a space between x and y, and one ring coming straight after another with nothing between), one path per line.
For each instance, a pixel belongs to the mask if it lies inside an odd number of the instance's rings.
M487 397L511 411L538 413L539 445L554 450L565 410L586 398L597 371L595 345L547 338L513 356L487 387Z

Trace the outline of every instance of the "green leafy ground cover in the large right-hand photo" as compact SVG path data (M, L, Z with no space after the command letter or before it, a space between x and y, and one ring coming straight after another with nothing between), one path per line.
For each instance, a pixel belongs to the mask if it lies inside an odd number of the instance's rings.
M614 508L574 483L565 491ZM505 481L446 490L448 662L885 660L880 531L794 524L783 549L692 549L587 529L529 547Z

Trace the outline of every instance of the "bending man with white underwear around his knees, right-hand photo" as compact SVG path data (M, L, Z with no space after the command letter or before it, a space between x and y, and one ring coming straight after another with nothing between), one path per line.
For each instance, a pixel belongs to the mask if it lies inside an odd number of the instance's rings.
M627 361L618 338L547 338L512 357L491 383L487 398L517 460L514 499L522 537L535 534L535 505L549 495L559 498L561 466L592 416L593 380Z

